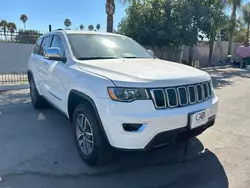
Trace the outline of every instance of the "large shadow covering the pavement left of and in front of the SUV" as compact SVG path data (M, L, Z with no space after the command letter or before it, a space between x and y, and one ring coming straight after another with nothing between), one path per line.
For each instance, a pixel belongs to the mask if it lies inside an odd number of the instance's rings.
M5 187L228 187L219 159L197 138L152 151L117 151L114 161L90 167L77 153L72 127L56 110L35 111L30 103L2 109Z

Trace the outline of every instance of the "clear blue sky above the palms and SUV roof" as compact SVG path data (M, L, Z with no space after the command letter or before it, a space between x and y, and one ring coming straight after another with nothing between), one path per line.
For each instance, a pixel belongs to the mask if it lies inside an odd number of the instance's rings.
M125 16L126 7L116 3L114 15L114 28L117 28L122 17ZM23 29L20 20L21 14L28 16L27 29L48 31L49 24L52 30L64 29L64 20L69 18L72 29L90 24L101 25L101 31L106 31L107 16L105 0L2 0L0 21L15 22L17 29Z

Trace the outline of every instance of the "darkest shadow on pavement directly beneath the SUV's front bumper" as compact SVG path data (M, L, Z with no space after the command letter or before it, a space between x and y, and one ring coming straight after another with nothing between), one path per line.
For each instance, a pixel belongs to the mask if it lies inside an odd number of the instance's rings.
M222 164L197 138L148 152L120 152L106 166L113 171L102 174L134 187L228 187Z

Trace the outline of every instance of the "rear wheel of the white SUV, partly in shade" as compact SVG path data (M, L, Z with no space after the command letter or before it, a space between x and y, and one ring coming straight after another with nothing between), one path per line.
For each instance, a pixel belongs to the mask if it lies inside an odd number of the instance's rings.
M47 106L47 102L44 98L38 93L35 81L33 78L29 80L30 84L30 98L32 105L35 109L42 109Z

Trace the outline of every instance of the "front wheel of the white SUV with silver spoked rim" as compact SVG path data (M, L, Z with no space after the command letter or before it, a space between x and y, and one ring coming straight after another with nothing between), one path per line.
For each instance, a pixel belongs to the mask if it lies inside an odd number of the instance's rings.
M84 162L92 166L106 163L112 159L112 148L89 106L80 104L76 107L73 125L76 147Z

